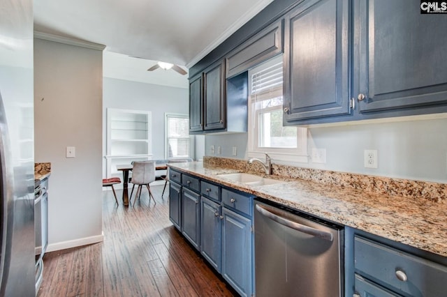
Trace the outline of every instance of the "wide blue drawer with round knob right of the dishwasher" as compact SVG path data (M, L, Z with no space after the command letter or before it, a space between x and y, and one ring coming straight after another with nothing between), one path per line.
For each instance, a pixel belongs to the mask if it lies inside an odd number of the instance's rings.
M355 268L361 275L400 294L443 296L447 268L356 236ZM398 278L400 277L400 278ZM400 280L406 277L406 280Z

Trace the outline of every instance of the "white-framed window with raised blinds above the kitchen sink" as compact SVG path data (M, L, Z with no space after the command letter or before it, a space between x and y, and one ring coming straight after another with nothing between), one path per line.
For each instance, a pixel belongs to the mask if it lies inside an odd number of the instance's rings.
M249 156L307 162L307 130L282 124L282 56L249 70Z

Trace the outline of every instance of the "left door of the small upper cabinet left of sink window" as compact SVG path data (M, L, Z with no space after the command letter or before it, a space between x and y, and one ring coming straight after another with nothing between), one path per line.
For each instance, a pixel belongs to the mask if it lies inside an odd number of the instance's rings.
M197 75L189 81L189 132L203 130L203 85L202 75Z

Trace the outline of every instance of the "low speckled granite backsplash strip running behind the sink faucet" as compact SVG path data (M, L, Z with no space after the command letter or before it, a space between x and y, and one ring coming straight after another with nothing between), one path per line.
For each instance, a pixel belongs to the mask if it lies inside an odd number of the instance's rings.
M226 167L241 170L242 172L261 173L263 169L258 164L248 164L245 160L231 158L203 157L203 164L207 167ZM430 183L426 181L411 181L399 178L382 176L367 176L346 172L332 172L321 169L291 167L286 165L272 165L272 174L284 178L299 178L305 181L314 181L325 185L337 185L343 188L352 188L375 192L383 195L400 196L411 199L428 199L446 203L447 184Z

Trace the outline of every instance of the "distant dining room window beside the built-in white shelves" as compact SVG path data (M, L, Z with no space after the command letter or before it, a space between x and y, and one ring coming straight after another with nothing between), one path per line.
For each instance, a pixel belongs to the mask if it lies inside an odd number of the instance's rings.
M165 114L165 158L191 157L189 117L186 114Z

